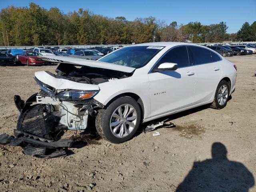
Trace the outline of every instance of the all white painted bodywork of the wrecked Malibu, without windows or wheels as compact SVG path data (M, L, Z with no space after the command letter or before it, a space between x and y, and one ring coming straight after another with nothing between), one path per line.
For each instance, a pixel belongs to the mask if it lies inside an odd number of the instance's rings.
M148 62L148 64L138 69L79 58L41 56L43 60L48 61L55 60L57 62L67 64L84 65L128 73L133 72L130 77L111 80L98 85L57 79L46 72L36 72L35 74L38 80L56 89L99 90L98 94L94 96L94 99L103 105L108 104L108 102L113 98L121 94L136 94L140 97L143 103L143 122L213 102L214 93L218 83L223 78L230 79L231 92L234 91L236 84L236 70L231 62L227 61L216 52L215 53L222 58L219 62L192 65L184 68L178 68L175 71L150 73L158 59L167 50L179 45L199 46L214 52L210 48L190 43L156 42L137 44L133 46L165 46L160 50L160 52L158 52L158 54L156 54L156 56L154 56L154 58L152 58L152 60ZM219 69L216 70L216 68ZM188 72L189 74L190 72L194 74L187 75Z

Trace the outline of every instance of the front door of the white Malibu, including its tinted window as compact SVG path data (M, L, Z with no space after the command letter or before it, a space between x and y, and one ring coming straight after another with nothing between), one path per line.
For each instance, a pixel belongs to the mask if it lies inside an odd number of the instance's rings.
M151 117L192 106L194 102L196 74L189 64L186 46L170 49L154 68L165 62L178 64L178 69L149 72Z

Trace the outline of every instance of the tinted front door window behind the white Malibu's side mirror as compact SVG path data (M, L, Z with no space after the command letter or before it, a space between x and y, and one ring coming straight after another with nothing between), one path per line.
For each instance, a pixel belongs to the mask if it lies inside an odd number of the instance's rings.
M158 62L156 66L162 63L176 63L178 68L189 66L188 51L186 46L178 46L168 51Z

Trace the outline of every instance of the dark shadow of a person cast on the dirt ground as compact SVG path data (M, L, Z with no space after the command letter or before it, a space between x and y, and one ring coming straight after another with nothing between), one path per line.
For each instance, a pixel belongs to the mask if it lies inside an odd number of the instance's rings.
M212 145L212 159L194 165L176 192L248 192L254 177L240 162L227 159L226 147Z

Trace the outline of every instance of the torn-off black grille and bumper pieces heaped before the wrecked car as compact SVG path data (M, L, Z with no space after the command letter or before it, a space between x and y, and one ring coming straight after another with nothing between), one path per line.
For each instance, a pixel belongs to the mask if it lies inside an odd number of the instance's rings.
M14 102L20 111L14 136L4 133L0 135L0 144L22 146L24 154L38 158L54 158L66 156L68 148L73 144L69 138L61 139L63 129L58 124L58 117L46 114L45 104L36 102L34 94L24 102L20 96L14 96Z

